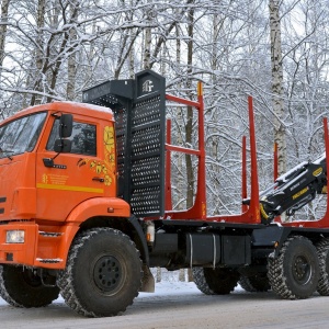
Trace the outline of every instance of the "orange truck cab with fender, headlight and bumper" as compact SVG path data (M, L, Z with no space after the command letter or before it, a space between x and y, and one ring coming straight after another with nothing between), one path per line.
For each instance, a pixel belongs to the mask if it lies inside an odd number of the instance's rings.
M3 121L0 180L1 263L64 268L83 220L129 216L116 198L110 109L54 102Z

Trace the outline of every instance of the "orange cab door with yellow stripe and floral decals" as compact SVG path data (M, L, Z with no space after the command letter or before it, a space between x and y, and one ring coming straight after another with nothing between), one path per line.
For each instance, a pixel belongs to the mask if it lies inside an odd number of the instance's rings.
M37 218L65 220L83 201L113 194L113 170L104 158L102 129L101 124L75 115L71 150L56 154L59 117L50 116L36 160ZM53 159L52 167L45 164L47 159Z

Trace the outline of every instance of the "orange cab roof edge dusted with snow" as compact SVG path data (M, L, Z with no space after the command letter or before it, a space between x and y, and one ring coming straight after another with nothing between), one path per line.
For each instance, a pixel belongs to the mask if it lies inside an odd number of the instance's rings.
M106 118L109 121L114 121L113 112L111 109L105 106L99 106L94 104L88 104L88 103L78 103L78 102L53 102L53 103L46 103L35 106L30 106L27 109L21 110L16 112L15 114L9 116L4 121L1 122L1 124L12 121L16 117L29 115L36 112L42 111L60 111L65 113L72 113L72 114L82 114L86 116L92 116L98 118Z

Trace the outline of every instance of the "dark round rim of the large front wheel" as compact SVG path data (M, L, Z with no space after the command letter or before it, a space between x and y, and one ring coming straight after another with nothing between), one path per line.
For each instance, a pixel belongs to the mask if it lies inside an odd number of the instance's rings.
M101 257L94 265L93 280L103 293L113 293L121 285L123 271L120 261L113 256Z

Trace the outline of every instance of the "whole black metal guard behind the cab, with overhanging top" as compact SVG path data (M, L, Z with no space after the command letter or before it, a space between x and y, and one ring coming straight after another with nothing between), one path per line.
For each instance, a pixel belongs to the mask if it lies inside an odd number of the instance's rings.
M117 196L139 218L164 215L166 80L151 70L83 91L83 102L111 107L115 118Z

